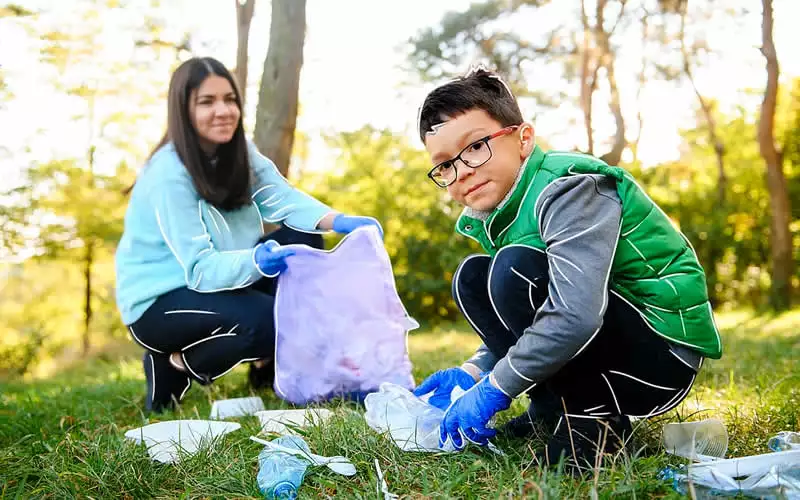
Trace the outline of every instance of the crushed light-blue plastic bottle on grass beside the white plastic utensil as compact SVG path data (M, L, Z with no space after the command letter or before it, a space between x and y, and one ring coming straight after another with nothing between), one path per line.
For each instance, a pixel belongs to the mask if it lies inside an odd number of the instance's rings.
M285 448L311 453L306 442L299 436L281 436L272 442ZM303 457L266 447L258 454L258 489L270 500L295 499L310 464Z

